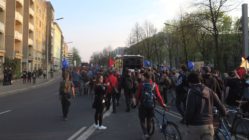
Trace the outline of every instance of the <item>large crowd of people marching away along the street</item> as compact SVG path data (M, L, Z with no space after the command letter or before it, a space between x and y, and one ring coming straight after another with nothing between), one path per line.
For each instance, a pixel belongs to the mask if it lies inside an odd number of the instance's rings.
M212 139L213 106L226 115L225 106L238 106L238 100L249 99L248 74L241 76L231 71L221 76L219 71L208 66L191 72L184 65L180 70L125 69L122 75L113 68L78 67L64 70L62 77L60 95L64 120L67 120L71 96L93 93L94 127L107 129L103 125L103 113L111 109L111 105L112 112L117 113L121 93L124 93L126 112L138 106L145 138L150 137L146 129L150 123L145 124L154 116L154 100L164 108L176 106L183 118L181 123L189 126L188 138ZM248 112L249 103L241 108Z

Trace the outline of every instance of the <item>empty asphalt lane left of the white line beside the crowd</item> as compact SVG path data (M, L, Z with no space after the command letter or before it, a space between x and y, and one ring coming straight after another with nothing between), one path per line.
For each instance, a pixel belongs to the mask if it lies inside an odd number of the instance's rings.
M62 121L59 81L0 98L0 140L66 140L92 124L91 97L72 99Z

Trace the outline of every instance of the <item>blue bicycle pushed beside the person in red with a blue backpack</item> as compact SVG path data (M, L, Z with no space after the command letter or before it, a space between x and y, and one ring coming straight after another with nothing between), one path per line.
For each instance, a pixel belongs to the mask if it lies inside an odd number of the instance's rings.
M151 128L148 130L149 135L153 135L155 132L155 119L157 124L159 124L160 132L163 134L163 137L165 140L181 140L181 133L178 129L178 126L174 123L169 121L166 118L166 110L163 109L163 112L161 112L160 109L155 108L155 113L158 113L160 116L162 116L162 120L160 122L160 119L154 116L151 120Z

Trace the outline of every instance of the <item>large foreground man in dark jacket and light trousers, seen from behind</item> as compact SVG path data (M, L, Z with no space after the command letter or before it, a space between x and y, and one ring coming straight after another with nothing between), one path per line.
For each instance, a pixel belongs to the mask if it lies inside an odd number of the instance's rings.
M226 109L216 93L201 83L199 73L188 76L190 84L184 119L188 127L188 140L212 140L214 136L213 106L226 115Z

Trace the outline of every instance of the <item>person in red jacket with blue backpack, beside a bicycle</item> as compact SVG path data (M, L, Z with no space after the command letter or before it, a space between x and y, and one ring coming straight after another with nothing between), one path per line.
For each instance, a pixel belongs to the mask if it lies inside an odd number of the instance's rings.
M149 139L150 137L148 130L151 127L150 121L154 117L155 100L158 100L160 105L166 108L166 104L160 94L158 85L152 82L151 73L146 72L144 73L144 81L140 83L136 96L136 104L139 105L138 116L146 139Z

